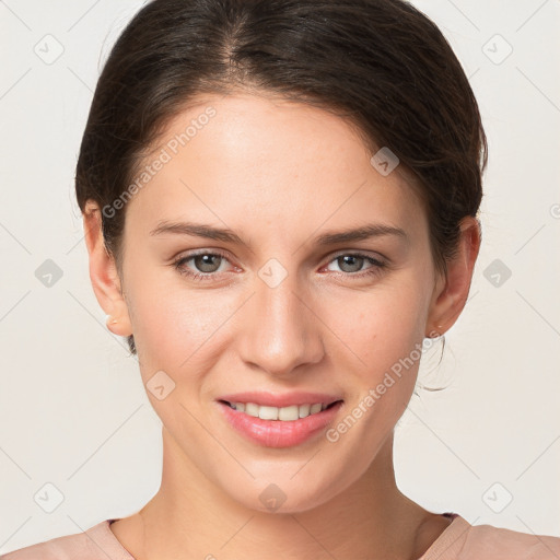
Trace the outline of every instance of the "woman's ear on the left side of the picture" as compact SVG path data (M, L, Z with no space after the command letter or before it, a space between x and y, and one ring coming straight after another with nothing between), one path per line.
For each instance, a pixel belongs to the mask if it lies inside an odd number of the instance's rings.
M132 326L121 290L115 259L105 247L100 207L88 200L83 213L85 244L90 254L90 279L95 298L103 311L110 317L107 328L115 335L128 337Z

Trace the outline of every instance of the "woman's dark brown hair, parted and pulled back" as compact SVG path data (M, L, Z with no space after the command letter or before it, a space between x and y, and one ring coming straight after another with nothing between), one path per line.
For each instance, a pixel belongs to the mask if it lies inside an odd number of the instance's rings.
M95 89L75 173L81 211L88 199L107 208L121 196L195 95L235 89L329 110L352 122L372 152L388 147L415 177L435 266L446 271L460 220L480 206L487 139L447 40L402 0L149 2L116 42ZM125 211L102 212L119 271ZM136 353L132 336L128 343Z

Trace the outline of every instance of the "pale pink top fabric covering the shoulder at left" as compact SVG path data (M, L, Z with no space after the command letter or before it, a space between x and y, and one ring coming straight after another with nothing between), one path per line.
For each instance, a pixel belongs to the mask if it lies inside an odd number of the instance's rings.
M0 556L0 560L133 560L105 520L83 533L52 538Z

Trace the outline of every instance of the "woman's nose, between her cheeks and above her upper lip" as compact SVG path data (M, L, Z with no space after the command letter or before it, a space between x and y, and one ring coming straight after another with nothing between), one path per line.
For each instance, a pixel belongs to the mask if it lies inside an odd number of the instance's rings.
M312 299L299 293L293 273L276 287L256 278L256 293L244 306L241 358L270 375L290 375L299 365L319 362L325 353L323 324Z

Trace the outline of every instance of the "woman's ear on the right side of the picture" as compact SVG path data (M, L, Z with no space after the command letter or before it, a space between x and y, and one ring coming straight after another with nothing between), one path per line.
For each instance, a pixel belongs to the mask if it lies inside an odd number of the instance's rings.
M465 307L480 241L480 222L470 215L464 218L460 222L457 255L447 261L446 278L440 275L434 287L427 322L431 332L443 335L453 326Z

